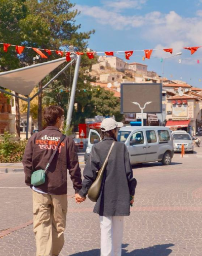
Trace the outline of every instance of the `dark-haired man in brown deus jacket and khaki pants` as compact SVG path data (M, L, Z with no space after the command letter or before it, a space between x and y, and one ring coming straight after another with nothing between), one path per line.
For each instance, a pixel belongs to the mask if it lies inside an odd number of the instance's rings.
M64 110L49 106L44 110L47 128L33 134L23 156L25 183L33 190L33 230L36 238L36 256L59 255L64 245L67 213L67 169L73 182L75 200L82 188L82 178L74 141L66 136L59 145L47 172L45 183L34 187L31 174L45 170L61 139Z

